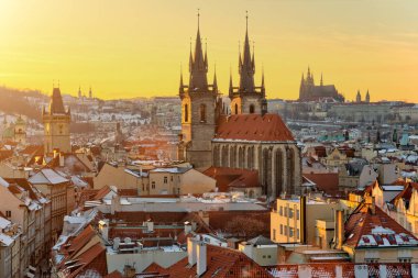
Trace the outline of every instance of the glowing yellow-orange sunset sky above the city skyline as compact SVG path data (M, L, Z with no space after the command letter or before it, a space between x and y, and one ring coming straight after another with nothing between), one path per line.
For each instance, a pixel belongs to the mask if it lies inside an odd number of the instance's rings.
M0 85L103 99L176 96L197 9L209 74L228 94L239 42L255 45L267 98L297 99L310 66L348 100L418 102L416 0L0 0ZM180 66L183 65L183 67Z

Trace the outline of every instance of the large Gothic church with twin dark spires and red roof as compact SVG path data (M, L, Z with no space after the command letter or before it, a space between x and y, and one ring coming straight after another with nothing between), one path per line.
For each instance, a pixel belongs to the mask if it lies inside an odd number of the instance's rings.
M218 90L217 75L208 81L208 55L198 29L189 55L189 81L180 75L182 133L178 159L205 170L211 166L257 170L263 193L271 200L301 192L300 149L278 114L267 112L264 74L254 81L255 59L251 54L249 27L239 54L238 86L230 77L228 108Z

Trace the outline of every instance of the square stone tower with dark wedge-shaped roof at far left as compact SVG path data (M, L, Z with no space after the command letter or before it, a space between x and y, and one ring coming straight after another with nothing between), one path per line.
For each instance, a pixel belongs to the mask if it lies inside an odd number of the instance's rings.
M42 114L44 122L44 151L45 154L53 153L54 149L70 153L69 123L72 115L69 108L65 111L59 88L54 88L50 102L50 111L45 109Z

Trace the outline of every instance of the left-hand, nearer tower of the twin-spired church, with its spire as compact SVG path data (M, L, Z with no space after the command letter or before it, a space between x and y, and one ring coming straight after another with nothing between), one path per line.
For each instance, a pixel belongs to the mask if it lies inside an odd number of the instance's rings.
M218 85L208 84L208 55L201 45L200 14L196 35L195 53L189 55L189 85L184 85L180 74L179 97L182 99L182 134L179 135L178 159L189 162L195 168L211 166L211 140L218 120Z

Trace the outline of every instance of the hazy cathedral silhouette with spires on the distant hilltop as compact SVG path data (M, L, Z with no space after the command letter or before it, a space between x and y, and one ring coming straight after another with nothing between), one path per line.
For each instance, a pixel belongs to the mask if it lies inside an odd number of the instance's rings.
M321 81L319 85L315 85L314 74L308 73L306 78L301 75L299 101L321 101L326 99L333 99L338 102L344 102L344 97L338 92L334 85L323 85L323 78L321 75Z

